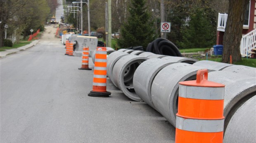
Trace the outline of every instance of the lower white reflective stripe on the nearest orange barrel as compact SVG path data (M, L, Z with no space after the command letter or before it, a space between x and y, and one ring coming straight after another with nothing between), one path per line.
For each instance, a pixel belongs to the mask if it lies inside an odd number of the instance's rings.
M215 133L223 131L224 119L222 120L197 120L185 119L176 116L176 128L185 131L196 131L205 133Z

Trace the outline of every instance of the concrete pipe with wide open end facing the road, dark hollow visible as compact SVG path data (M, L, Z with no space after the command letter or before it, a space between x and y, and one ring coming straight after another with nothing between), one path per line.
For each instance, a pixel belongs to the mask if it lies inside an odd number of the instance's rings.
M142 101L142 99L134 92L133 74L137 67L145 60L148 60L148 58L138 55L126 55L116 61L112 70L111 76L114 85L117 85L117 88L134 101Z

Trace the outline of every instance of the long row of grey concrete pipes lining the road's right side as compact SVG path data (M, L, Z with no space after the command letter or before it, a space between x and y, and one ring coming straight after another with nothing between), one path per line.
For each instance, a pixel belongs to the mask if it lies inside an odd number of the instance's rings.
M112 83L130 99L145 101L174 127L179 82L195 80L199 69L209 69L208 80L225 85L224 141L255 141L256 68L126 49L107 57Z

